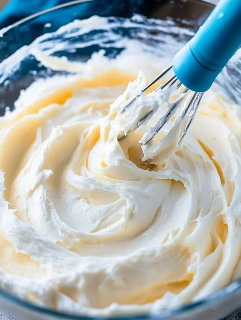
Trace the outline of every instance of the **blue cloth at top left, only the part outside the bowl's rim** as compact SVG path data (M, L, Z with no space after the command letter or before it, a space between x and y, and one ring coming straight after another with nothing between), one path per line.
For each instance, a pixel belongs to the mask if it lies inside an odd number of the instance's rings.
M10 0L0 12L0 29L31 14L71 0Z

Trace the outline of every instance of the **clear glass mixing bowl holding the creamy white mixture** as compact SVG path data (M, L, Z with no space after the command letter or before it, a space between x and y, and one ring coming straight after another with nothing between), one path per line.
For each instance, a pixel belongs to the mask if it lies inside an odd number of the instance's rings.
M65 71L54 71L51 68L44 67L29 52L29 44L45 33L52 33L61 26L75 20L86 19L92 15L105 17L132 17L138 13L149 18L158 18L165 21L172 21L179 28L176 32L172 32L169 37L168 45L179 46L189 40L192 33L203 23L207 15L213 9L213 5L198 0L146 0L146 1L116 1L116 0L89 0L89 1L73 1L66 5L46 10L27 19L21 20L14 25L1 31L0 38L0 116L3 116L6 108L13 110L14 101L18 98L21 90L27 88L29 84L36 79L51 77L56 74L65 74ZM189 32L179 32L181 28L189 30ZM144 35L140 28L131 28L126 30L117 28L115 30L116 37L139 38L145 41L147 46L152 47L155 44L155 26L153 30L150 28L149 35ZM162 31L158 31L162 32ZM98 35L88 35L93 39L98 39ZM96 37L97 36L97 37ZM101 38L101 37L100 37ZM175 41L173 41L173 39ZM65 38L64 33L59 33L51 39L54 44L52 52L55 56L67 56L69 60L87 61L93 52L97 52L104 46L106 55L110 58L115 57L123 50L120 46L105 43L102 41L90 42L86 46L80 46L78 49L71 50L72 44L86 41L80 36ZM66 45L68 44L68 50ZM45 49L49 50L48 37L42 42ZM164 48L165 48L165 44ZM175 51L174 50L174 51ZM173 51L173 52L174 52ZM17 52L17 53L15 53ZM165 52L165 50L164 50ZM229 63L228 68L223 71L223 76L219 77L218 83L231 99L241 103L241 63L238 57ZM241 280L237 280L229 286L214 292L212 295L203 300L184 305L177 309L167 309L158 315L138 315L130 317L121 317L119 319L220 319L233 310L241 306ZM18 320L42 320L42 319L76 319L84 320L90 317L78 315L64 314L47 308L34 305L31 302L23 301L12 294L0 290L0 310L15 317ZM112 318L114 319L114 318ZM115 318L117 319L117 317Z

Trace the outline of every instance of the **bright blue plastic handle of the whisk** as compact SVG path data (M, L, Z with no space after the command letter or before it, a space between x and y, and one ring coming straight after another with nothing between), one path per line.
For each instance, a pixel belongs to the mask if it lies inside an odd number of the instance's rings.
M241 44L241 0L223 0L173 59L179 81L207 91Z

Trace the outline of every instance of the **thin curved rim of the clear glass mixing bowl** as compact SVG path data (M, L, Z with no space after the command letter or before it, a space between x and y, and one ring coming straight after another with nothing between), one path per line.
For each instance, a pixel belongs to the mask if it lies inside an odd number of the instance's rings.
M28 17L21 19L12 25L2 28L0 30L0 37L4 36L4 33L7 31L23 24L24 22L27 22L29 20L32 20L38 16L41 16L45 13L61 9L63 7L71 6L74 4L79 4L79 3L84 3L84 2L90 2L90 1L99 1L99 0L74 0L68 3L60 4L57 6L54 6L52 8L34 13L32 15L29 15ZM209 4L215 6L212 2L212 0L195 0L197 2L201 2L203 4ZM231 284L221 288L218 291L215 291L207 296L205 298L202 298L197 301L193 301L184 305L181 305L181 307L177 308L168 308L168 309L163 309L158 313L145 313L145 314L130 314L130 315L118 315L118 316L88 316L88 315L78 315L78 314L71 314L67 312L61 312L61 311L56 311L54 309L46 308L39 306L33 302L23 300L3 289L0 288L0 298L3 298L5 301L10 302L11 304L17 305L21 308L28 309L29 311L32 311L33 313L38 313L41 315L46 315L46 316L53 316L59 319L66 319L66 320L83 320L83 319L88 319L88 320L95 320L95 319L122 319L122 320L148 320L148 319L153 319L153 320L161 320L161 319L170 319L173 316L183 316L187 313L190 313L191 311L199 311L200 309L204 307L214 307L218 303L223 302L226 300L228 297L232 299L236 294L241 294L241 278L233 281Z

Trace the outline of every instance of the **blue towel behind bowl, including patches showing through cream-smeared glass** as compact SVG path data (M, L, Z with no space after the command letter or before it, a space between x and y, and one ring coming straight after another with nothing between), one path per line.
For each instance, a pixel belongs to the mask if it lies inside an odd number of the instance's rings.
M31 44L38 36L45 33L52 33L58 30L60 26L73 20L87 19L92 15L101 15L103 17L132 17L134 13L138 13L151 16L151 12L155 12L155 8L158 7L161 2L165 1L168 0L84 1L38 15L36 18L18 24L14 28L7 28L4 30L4 36L0 39L0 63L9 58L23 46ZM8 27L31 14L70 2L71 0L9 0L4 9L0 12L0 29ZM122 36L126 36L125 33L123 33L124 30L122 28L117 28L115 32ZM128 33L129 37L133 37L132 29L130 29ZM92 34L92 36L94 36L94 34ZM58 35L56 36L55 41L58 43ZM84 42L84 35L80 36L78 41ZM87 60L93 52L97 52L101 48L102 47L98 44L90 44L80 49L81 54L79 54L79 56L82 57L83 61ZM116 49L115 46L110 46L105 49L108 56L115 57L123 48ZM76 52L66 52L64 48L56 49L55 55L68 55L68 59L76 59ZM16 63L18 63L18 61L16 61ZM34 70L37 73L30 73L29 70ZM4 73L4 80L2 81L9 81L4 86L1 86L0 105L9 106L10 110L13 110L14 101L17 100L20 91L26 89L29 84L33 82L33 79L41 77L45 78L46 75L49 76L50 74L53 75L58 72L45 68L31 54L28 55L27 59L21 61L14 72L8 72L7 70L7 73L5 73L5 71L4 67L2 69L0 68L0 77L2 76L1 72ZM13 81L14 86L12 85ZM0 108L0 116L3 116L4 112L5 109Z

